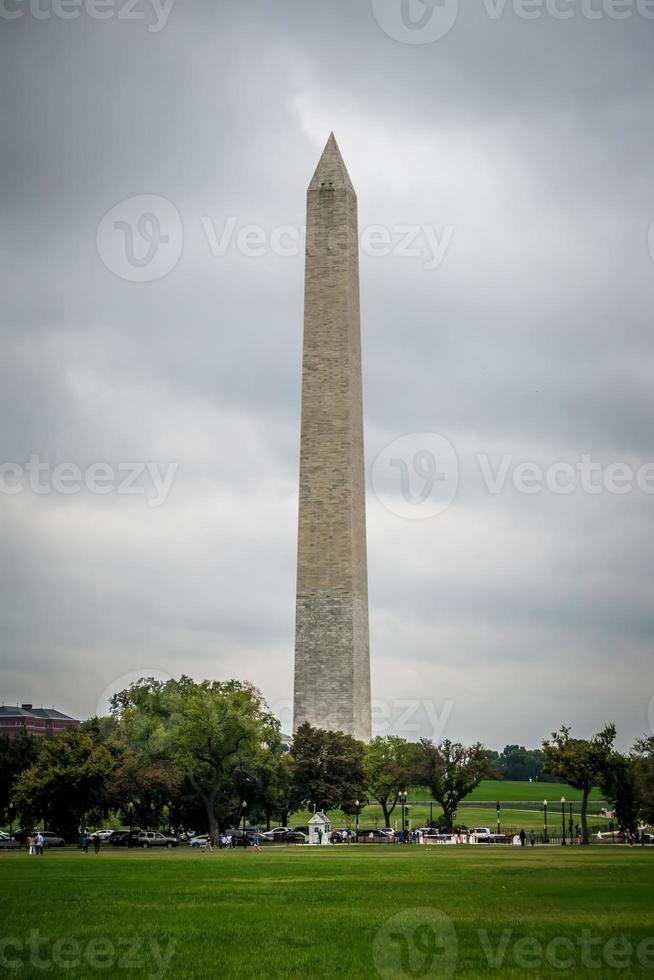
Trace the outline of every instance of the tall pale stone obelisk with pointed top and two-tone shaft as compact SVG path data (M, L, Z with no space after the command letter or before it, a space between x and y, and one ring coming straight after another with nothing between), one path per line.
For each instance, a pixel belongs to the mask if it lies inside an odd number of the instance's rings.
M334 134L307 191L294 729L371 737L357 197Z

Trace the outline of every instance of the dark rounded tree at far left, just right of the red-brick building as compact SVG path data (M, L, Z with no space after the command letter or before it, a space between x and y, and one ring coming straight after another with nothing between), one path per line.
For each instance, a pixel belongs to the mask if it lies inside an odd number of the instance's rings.
M107 733L107 719L93 718L43 739L38 759L16 786L16 806L27 822L43 819L72 840L80 827L108 813L116 755Z

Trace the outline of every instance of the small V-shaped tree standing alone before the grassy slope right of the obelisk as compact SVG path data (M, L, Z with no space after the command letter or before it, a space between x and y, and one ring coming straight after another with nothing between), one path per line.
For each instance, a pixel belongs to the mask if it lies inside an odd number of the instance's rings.
M461 800L469 796L482 779L497 776L495 762L481 742L465 746L445 739L434 745L431 739L420 740L416 780L429 787L443 808L443 822L452 832Z

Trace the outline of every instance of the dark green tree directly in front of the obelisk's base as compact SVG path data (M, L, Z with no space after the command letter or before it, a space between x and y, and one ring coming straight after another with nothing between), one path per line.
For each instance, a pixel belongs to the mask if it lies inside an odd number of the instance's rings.
M291 746L291 809L313 803L317 809L344 807L366 793L364 746L351 735L300 725Z

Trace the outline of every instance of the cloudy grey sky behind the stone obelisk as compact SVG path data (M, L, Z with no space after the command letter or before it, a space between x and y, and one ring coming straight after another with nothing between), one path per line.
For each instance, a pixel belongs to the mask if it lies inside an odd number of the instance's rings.
M288 729L301 229L334 129L376 730L648 729L654 4L461 7L3 0L6 703L86 716L184 671L254 681Z

